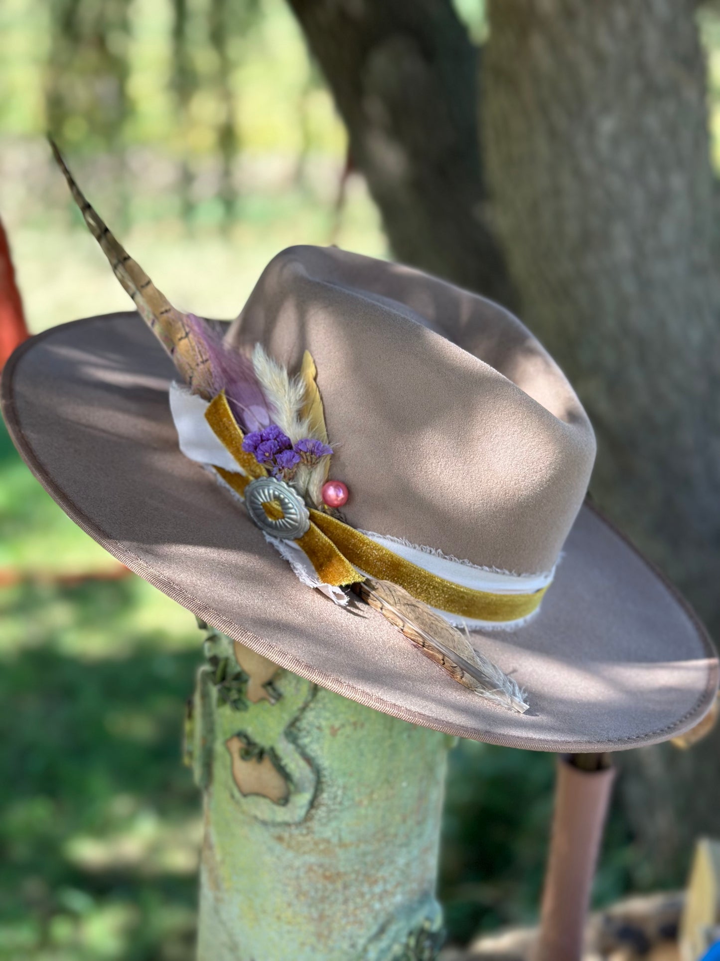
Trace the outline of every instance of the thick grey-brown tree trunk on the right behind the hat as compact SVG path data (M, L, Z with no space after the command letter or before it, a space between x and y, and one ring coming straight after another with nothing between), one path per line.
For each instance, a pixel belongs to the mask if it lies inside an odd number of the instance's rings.
M717 635L717 208L694 9L492 0L483 138L524 319L598 434L591 490ZM719 744L620 756L655 878L720 832Z

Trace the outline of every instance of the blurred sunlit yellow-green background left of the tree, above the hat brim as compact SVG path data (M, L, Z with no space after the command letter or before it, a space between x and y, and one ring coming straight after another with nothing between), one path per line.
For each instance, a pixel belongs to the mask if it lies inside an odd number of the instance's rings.
M293 243L387 254L284 0L6 0L0 216L31 330L130 302L54 168L180 307L231 317ZM68 242L70 241L70 242Z

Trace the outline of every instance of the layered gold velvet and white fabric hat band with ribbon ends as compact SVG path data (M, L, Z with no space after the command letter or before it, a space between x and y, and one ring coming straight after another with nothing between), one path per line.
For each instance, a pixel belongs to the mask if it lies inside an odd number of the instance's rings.
M244 497L252 480L267 476L265 467L252 454L243 451L243 431L237 425L224 394L219 394L208 404L173 385L170 400L180 450L185 456L212 467L240 498ZM208 427L211 433L207 431ZM269 506L268 509L274 508ZM332 588L347 587L369 575L404 587L449 621L462 621L468 627L508 629L519 626L539 609L552 577L543 576L540 579L540 582L544 581L542 586L528 591L528 581L538 583L539 579L488 572L502 580L502 591L477 590L426 570L337 517L314 508L310 508L309 516L309 529L292 542L277 541L267 532L266 537L291 563L293 556L289 553L292 550L289 543L299 548L317 575L319 583L313 585L326 585L330 588L327 593L336 601L342 595L340 590L333 591ZM417 549L413 553L427 556L428 564L437 561L433 554L423 555ZM445 558L444 570L448 567L458 568L459 576L465 575L466 579L468 570L477 570ZM293 568L300 579L311 582L301 577L295 564ZM516 586L514 582L517 582Z

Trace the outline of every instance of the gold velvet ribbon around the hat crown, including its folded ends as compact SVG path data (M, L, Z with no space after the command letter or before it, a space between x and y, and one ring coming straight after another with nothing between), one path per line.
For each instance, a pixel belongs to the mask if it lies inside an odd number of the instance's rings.
M222 467L215 470L242 497L250 481L267 477L267 471L252 454L243 451L243 431L232 416L224 393L218 394L207 407L205 419L243 473ZM276 501L269 501L263 508L272 519L278 519L282 509ZM542 587L532 594L494 594L464 587L423 570L321 510L310 510L310 528L295 543L325 584L345 587L360 582L364 577L359 568L373 578L392 580L431 607L473 621L518 621L538 609L547 590Z

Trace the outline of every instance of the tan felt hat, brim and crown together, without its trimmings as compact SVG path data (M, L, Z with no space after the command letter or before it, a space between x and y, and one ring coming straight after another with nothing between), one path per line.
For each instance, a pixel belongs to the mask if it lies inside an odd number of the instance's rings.
M584 503L587 417L515 317L419 271L300 247L272 261L227 339L260 342L290 369L311 351L354 527L493 570L557 562L528 623L469 635L525 688L529 710L479 698L372 608L300 583L242 505L180 452L168 403L177 371L133 312L38 334L2 381L21 456L110 554L279 666L448 734L618 751L702 719L718 683L707 633Z

